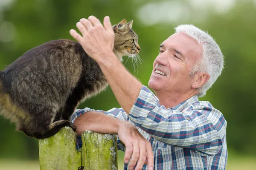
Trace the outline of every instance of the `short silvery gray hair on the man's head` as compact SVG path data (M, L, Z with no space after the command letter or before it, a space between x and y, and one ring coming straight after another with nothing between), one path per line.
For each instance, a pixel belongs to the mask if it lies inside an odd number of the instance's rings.
M198 96L202 97L206 91L212 87L216 79L221 75L224 67L224 56L218 44L205 31L193 25L180 25L175 27L175 32L184 32L194 38L203 49L202 57L196 61L191 69L189 76L194 77L198 72L206 72L210 78L208 82L201 88L198 88Z

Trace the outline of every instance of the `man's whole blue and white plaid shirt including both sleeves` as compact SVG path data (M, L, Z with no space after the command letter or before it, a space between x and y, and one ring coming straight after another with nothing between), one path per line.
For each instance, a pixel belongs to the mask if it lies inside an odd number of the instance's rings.
M166 109L143 86L129 115L122 108L106 112L85 108L76 110L71 122L87 111L104 112L134 124L151 142L155 170L224 170L226 167L227 122L220 111L209 102L199 101L197 95ZM117 142L118 149L124 151L124 144L119 139ZM124 169L127 167L125 164ZM146 169L144 165L143 170Z

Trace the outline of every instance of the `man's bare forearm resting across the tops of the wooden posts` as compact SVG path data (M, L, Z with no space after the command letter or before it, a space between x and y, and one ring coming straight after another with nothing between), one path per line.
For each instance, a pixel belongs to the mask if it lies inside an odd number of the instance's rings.
M81 136L85 130L92 130L99 133L117 134L120 123L123 121L104 113L89 111L79 116L74 125L76 133Z

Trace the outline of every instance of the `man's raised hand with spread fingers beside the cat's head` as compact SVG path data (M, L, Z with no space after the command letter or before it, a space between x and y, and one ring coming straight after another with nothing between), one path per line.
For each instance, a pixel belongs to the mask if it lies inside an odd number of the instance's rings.
M113 54L115 34L108 16L104 18L104 27L94 16L88 17L88 20L82 18L76 23L76 27L82 36L74 29L70 30L71 36L82 45L84 51L96 62L104 62L106 55ZM112 56L115 57L114 54Z

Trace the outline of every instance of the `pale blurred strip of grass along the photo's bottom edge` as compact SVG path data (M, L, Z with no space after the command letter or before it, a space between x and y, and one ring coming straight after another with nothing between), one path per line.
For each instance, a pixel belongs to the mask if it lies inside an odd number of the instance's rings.
M118 167L123 169L124 153L118 151ZM256 157L229 153L227 170L255 170ZM38 161L0 159L0 170L40 170Z

